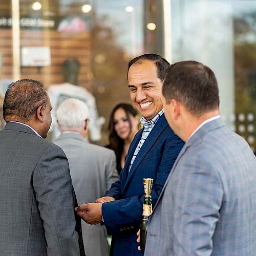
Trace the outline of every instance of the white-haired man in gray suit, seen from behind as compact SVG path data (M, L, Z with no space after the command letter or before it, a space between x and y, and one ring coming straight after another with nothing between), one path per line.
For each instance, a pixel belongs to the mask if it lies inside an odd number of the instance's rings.
M66 153L78 203L94 202L104 195L118 179L115 153L108 148L90 144L88 133L89 109L78 99L67 99L57 109L61 135L55 143ZM82 221L82 233L87 256L108 255L104 226Z

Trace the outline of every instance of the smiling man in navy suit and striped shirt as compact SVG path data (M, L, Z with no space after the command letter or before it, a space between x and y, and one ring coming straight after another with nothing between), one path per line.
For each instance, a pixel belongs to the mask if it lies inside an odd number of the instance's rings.
M157 54L144 54L128 66L128 83L134 106L141 113L144 129L135 136L120 179L96 203L83 204L78 215L90 224L104 222L113 234L112 255L143 255L137 250L136 232L142 217L143 178L153 178L153 205L184 144L167 124L161 100L168 61Z

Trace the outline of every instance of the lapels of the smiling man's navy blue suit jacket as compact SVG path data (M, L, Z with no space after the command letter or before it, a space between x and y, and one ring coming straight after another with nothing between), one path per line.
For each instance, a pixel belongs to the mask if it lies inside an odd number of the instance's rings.
M129 183L129 181L133 177L134 173L136 172L137 167L139 166L141 161L143 161L143 159L144 159L145 155L148 153L148 151L151 150L152 146L154 145L154 143L156 142L156 140L158 139L158 137L160 136L160 134L162 133L162 131L165 129L166 126L167 126L167 121L166 121L164 115L162 115L159 118L158 122L155 124L154 128L152 129L152 131L150 132L150 135L148 135L148 137L146 138L144 144L142 145L138 155L136 156L136 158L134 160L134 163L132 165L130 173L126 174L127 175L127 179L126 179L126 182L125 182L125 185L124 185L122 191L125 190L127 184ZM141 136L139 137L139 140L140 140L140 138L141 138ZM129 159L127 159L127 161L125 163L125 164L128 165L128 166L126 166L126 170L127 170L126 173L128 173L128 169L127 168L129 167L129 165L131 163L131 159L133 157L135 148L137 147L137 145L139 143L139 140L137 140L137 143L135 143L134 150L132 151L131 156L129 156Z

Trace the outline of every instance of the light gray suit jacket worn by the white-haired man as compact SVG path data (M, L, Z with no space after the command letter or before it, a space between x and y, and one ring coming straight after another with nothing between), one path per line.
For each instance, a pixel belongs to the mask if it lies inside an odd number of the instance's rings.
M55 141L68 157L70 174L79 204L102 197L118 179L114 151L93 145L77 133L62 133ZM84 248L87 256L108 255L104 226L82 221Z

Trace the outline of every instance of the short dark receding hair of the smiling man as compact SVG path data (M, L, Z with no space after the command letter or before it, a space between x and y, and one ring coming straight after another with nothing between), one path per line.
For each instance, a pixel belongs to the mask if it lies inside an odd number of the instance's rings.
M158 77L161 81L163 81L165 70L170 66L170 63L165 58L155 53L147 53L133 58L128 64L127 77L131 66L134 63L141 64L143 60L150 60L156 64Z

